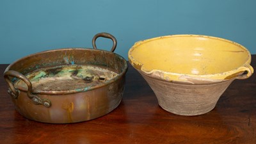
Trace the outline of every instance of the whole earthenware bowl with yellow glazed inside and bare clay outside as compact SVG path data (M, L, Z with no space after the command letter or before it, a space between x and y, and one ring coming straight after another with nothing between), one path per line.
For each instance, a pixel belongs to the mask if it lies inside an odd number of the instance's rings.
M234 81L253 74L250 52L212 36L170 35L136 42L129 62L145 78L159 105L177 115L211 111Z

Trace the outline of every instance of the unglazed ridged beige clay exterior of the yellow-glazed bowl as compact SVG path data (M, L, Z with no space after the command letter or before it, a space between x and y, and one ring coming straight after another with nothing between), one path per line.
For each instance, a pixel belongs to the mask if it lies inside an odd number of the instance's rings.
M148 77L141 72L156 94L159 106L177 115L202 115L214 109L221 94L233 79L212 84L170 83Z

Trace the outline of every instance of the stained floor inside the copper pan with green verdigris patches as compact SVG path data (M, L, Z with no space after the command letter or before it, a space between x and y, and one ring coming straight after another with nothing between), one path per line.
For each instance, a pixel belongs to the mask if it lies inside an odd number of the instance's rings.
M40 68L26 75L35 91L86 91L93 86L106 83L116 76L118 76L116 72L93 65L61 65ZM26 87L23 81L17 81L15 84Z

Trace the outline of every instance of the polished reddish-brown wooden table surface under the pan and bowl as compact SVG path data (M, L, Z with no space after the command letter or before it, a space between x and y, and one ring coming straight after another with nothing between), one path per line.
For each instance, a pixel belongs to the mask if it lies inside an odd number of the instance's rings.
M256 69L256 55L252 56ZM44 124L19 115L0 65L0 143L256 143L256 79L235 80L216 108L179 116L160 108L129 65L124 97L108 115L76 124Z

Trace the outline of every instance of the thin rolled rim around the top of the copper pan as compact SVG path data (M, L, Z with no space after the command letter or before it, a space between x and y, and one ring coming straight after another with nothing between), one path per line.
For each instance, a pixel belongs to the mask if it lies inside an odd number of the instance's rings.
M70 94L70 93L79 93L79 92L87 92L90 90L95 90L97 88L101 88L104 86L108 86L111 83L115 83L116 81L118 81L118 79L121 79L123 76L125 76L127 69L128 69L128 64L127 61L125 60L124 57L120 56L119 54L116 54L115 52L111 52L111 51L105 51L102 49L90 49L90 48L84 48L84 47L71 47L71 48L60 48L60 49L52 49L52 50L47 50L47 51L42 51L42 52L36 52L33 54L29 54L28 56L24 56L23 58L20 58L16 61L14 61L13 63L11 63L10 65L8 65L8 67L6 67L6 69L4 70L4 72L10 70L10 68L12 68L12 66L16 63L19 63L20 61L25 60L26 58L32 57L32 56L36 56L38 54L43 54L43 53L47 53L47 52L53 52L53 51L76 51L76 50L81 50L81 51L102 51L102 52L107 52L109 54L114 54L115 56L119 57L124 63L124 70L122 70L122 72L120 72L120 74L118 74L118 76L114 77L113 79L109 79L109 81L107 81L106 83L103 84L97 84L95 86L88 86L86 88L81 88L81 89L77 89L77 90L60 90L60 91L51 91L51 90L44 90L44 91L33 91L33 93L36 94L49 94L49 95L58 95L58 94ZM23 91L23 92L27 92L28 90L26 88L20 87L18 86L17 89Z

